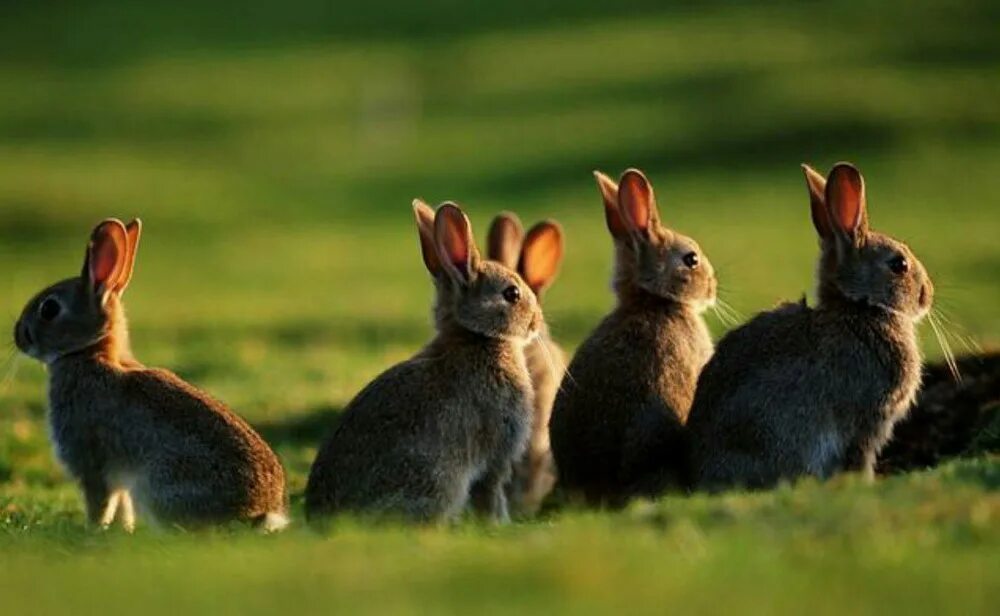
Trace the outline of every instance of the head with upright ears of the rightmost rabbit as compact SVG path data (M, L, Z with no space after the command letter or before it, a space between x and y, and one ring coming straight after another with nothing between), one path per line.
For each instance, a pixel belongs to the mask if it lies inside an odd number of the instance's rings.
M824 180L808 165L802 168L821 247L820 303L847 300L914 321L923 318L934 300L934 285L906 244L868 228L861 172L838 163Z

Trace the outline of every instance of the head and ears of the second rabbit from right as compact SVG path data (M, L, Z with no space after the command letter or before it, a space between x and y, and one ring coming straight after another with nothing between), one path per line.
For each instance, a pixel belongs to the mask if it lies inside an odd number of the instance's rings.
M638 169L616 185L595 172L604 216L616 248L615 290L620 298L636 291L691 306L701 312L715 303L715 270L698 243L664 227L653 186Z

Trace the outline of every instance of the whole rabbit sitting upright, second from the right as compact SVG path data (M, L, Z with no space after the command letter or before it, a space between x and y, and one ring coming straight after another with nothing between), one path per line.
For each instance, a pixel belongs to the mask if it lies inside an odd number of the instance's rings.
M653 187L595 172L615 245L618 303L577 350L549 423L559 485L618 507L679 484L683 424L712 354L703 319L717 283L693 239L664 227Z

